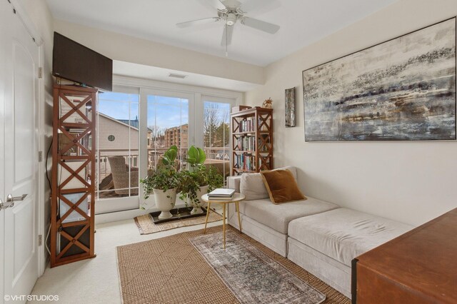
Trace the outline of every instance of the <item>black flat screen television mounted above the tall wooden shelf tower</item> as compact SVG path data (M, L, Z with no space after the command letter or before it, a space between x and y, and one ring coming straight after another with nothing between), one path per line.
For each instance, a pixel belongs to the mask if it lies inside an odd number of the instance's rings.
M103 91L113 90L113 61L55 31L52 74Z

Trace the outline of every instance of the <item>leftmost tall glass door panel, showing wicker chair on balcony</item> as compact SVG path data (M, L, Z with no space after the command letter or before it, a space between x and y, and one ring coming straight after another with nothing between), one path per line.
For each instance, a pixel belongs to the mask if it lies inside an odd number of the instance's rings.
M96 213L138 208L139 90L99 93Z

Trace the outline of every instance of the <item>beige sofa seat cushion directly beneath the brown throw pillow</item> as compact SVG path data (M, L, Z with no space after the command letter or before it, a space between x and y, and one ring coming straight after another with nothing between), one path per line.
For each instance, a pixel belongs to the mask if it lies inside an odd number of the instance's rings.
M306 201L295 201L275 205L269 198L254 201L241 201L240 212L280 233L287 234L288 223L302 216L311 216L338 208L334 203L309 198Z

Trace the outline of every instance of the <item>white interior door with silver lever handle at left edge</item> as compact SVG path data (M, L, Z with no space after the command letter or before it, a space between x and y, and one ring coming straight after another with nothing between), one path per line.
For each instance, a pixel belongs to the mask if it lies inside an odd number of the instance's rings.
M4 147L4 170L0 179L4 185L0 188L3 189L0 198L6 201L9 194L13 197L27 194L24 199L16 199L11 208L0 211L4 238L0 261L4 268L2 285L4 295L29 295L38 278L36 104L39 48L11 5L7 1L1 2L1 27L6 29L1 31L0 44L0 88L3 88L0 111L4 121L1 127L4 137L0 143Z

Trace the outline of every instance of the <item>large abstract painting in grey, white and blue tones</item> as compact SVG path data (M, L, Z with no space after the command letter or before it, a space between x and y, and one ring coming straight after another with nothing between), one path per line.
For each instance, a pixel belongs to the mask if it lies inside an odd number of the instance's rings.
M303 71L306 141L456 140L456 18Z

